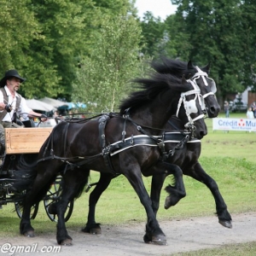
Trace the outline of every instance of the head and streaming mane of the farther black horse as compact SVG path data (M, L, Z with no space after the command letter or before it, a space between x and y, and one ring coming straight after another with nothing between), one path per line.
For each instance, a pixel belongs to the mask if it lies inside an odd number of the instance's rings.
M194 66L192 61L187 63L163 58L162 61L154 61L152 67L158 73L171 73L178 78L184 77L185 79L193 80L199 86L201 95L205 99L208 117L215 118L218 116L220 106L214 96L217 87L214 80L208 77L210 64L200 68Z

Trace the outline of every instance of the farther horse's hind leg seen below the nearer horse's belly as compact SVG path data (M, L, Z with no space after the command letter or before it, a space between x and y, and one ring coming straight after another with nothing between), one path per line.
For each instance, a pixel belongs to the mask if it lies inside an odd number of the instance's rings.
M102 193L108 188L109 183L113 178L112 174L102 173L101 177L96 183L96 188L92 190L89 197L89 212L87 223L82 231L90 234L102 234L100 224L95 221L96 203L99 200Z

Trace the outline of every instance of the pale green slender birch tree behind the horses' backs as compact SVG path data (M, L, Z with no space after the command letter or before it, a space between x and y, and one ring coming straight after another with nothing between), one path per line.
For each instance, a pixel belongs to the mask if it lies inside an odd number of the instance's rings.
M104 15L90 56L82 55L73 101L93 102L90 111L117 109L129 90L128 81L138 74L140 27L131 15Z

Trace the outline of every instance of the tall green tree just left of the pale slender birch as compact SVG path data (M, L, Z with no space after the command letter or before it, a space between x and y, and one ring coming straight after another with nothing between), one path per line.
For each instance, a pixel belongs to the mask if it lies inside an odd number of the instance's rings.
M70 100L77 56L88 48L97 12L90 0L32 0L31 8L40 24L41 38L30 45L29 55L37 64L30 68L35 87L30 93Z

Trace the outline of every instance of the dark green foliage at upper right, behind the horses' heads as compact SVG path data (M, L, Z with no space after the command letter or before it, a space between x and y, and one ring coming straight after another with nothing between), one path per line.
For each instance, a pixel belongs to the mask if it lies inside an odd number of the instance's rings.
M143 51L168 55L198 66L212 63L218 97L256 85L256 2L241 0L171 0L175 15L165 21L144 15Z

